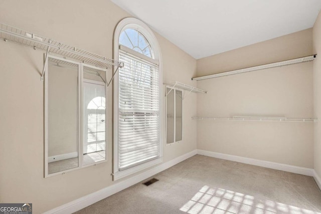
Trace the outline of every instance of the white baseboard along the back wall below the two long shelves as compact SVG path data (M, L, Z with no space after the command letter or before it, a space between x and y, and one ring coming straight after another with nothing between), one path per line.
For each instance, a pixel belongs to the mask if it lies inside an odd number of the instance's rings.
M198 149L197 153L201 154L201 155L205 155L205 156L216 157L216 158L220 158L220 159L231 160L231 161L236 161L236 162L246 163L246 164L251 164L251 165L256 165L256 166L262 166L262 167L266 167L266 168L277 169L277 170L282 170L282 171L287 171L287 172L293 172L293 173L303 174L303 175L307 175L307 176L314 175L313 169L304 168L304 167L300 167L300 166L287 165L287 164L270 162L270 161L265 161L265 160L257 160L257 159L235 156L235 155L230 155L230 154L223 154L223 153L218 153L218 152L213 152L213 151L205 151L205 150L201 150L201 149Z

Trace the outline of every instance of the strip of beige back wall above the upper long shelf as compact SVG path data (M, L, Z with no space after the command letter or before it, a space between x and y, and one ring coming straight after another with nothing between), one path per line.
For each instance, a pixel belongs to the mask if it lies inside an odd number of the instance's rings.
M197 76L216 74L312 54L312 28L197 60Z

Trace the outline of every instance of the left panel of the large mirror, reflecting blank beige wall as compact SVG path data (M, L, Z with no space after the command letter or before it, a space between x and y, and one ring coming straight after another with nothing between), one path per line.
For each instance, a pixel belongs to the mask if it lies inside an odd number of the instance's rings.
M78 65L49 59L48 173L78 167Z

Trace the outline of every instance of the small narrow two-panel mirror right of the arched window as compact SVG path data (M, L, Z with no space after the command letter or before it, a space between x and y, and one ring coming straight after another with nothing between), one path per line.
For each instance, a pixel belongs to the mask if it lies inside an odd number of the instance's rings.
M175 88L166 88L166 143L182 140L183 92Z

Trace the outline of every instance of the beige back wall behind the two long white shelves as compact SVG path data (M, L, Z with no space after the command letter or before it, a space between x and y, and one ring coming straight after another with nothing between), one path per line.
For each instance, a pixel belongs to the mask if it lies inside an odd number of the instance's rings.
M200 59L197 76L312 54L311 29ZM313 117L312 62L197 81L200 117ZM313 123L197 122L198 149L313 168Z

